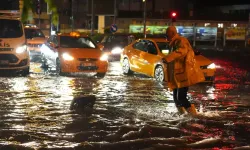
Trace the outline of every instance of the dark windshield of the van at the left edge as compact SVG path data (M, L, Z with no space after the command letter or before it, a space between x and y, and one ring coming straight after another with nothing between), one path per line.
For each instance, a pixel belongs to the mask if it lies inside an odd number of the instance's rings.
M0 19L0 38L19 38L23 35L19 20Z

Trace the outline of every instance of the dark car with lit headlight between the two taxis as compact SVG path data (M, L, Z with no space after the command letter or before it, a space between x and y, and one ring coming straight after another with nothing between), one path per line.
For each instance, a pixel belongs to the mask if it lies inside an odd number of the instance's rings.
M109 55L109 60L120 60L122 49L134 41L135 37L132 34L115 33L104 36L98 45Z

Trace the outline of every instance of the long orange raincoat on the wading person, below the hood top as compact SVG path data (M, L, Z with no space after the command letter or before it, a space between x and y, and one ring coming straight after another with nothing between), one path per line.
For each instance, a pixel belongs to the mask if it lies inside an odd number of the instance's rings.
M170 42L170 54L165 57L167 82L171 90L188 87L205 80L194 56L189 41L179 35L174 36Z

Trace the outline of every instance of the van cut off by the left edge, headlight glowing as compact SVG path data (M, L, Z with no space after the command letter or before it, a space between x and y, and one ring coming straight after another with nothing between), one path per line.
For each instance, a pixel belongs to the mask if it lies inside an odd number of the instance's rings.
M29 74L30 57L18 11L0 11L0 71Z

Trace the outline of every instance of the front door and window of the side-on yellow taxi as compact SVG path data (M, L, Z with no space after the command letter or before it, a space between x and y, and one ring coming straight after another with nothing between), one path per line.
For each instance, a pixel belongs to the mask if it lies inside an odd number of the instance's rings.
M139 55L139 67L142 69L142 73L153 75L155 65L161 60L161 56L158 55L159 51L154 42L145 40L144 47L145 49Z

